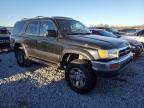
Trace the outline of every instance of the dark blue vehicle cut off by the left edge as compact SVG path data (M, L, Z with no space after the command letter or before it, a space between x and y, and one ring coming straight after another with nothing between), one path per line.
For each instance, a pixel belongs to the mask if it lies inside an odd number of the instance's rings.
M0 28L0 49L10 49L10 32L7 28Z

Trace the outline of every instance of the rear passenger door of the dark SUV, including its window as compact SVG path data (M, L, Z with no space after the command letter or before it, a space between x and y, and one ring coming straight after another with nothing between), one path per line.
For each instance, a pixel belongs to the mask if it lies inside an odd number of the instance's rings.
M24 32L24 43L30 56L37 56L38 21L29 21Z

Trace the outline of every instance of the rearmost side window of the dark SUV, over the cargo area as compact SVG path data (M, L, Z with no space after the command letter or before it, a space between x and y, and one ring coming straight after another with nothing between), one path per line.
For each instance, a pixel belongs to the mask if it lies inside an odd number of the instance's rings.
M24 24L25 22L17 22L15 25L14 25L14 29L12 31L12 34L13 35L16 35L16 34L20 34L22 32L22 29L24 27Z

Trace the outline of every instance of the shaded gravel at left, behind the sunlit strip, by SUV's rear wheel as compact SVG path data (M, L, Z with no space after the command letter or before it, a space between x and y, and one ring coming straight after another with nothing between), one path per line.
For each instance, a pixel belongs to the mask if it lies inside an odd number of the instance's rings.
M29 67L19 67L13 52L0 53L0 79L14 76L16 74L25 74L25 72L34 72L45 67L42 64L33 62Z

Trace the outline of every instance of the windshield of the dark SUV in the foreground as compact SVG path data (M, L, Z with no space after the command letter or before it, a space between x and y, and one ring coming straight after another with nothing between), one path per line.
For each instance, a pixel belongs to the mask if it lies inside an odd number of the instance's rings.
M90 30L79 21L57 20L57 23L65 35L91 34Z

